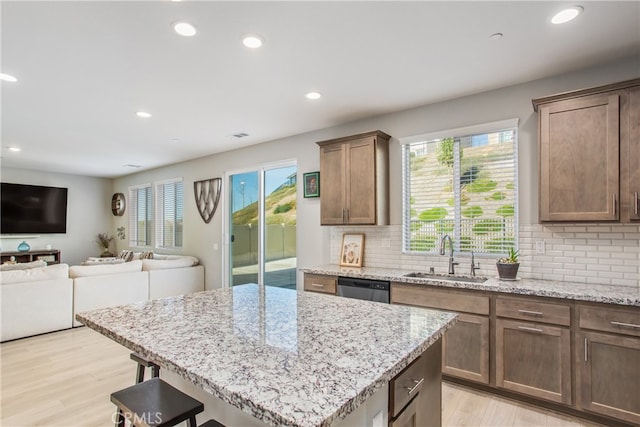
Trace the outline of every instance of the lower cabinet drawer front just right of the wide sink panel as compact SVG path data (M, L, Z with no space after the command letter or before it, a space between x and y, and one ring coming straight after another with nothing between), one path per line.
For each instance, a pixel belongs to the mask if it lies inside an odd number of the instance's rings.
M519 298L496 298L496 315L529 322L569 326L571 307Z

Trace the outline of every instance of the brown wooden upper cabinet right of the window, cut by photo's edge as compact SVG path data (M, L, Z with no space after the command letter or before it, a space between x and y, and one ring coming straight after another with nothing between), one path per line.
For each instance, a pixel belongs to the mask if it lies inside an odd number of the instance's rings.
M540 221L640 219L640 79L533 105Z

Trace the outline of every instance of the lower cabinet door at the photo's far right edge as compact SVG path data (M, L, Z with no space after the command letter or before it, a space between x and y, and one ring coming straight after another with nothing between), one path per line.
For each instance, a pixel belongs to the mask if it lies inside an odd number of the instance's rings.
M640 338L576 334L581 409L640 425Z

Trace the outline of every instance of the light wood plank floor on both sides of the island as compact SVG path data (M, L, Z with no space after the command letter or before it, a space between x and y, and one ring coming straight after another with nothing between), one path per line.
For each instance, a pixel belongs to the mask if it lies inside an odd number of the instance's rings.
M129 351L76 328L0 345L0 425L112 426L109 395L135 381ZM588 426L595 424L443 385L443 426Z

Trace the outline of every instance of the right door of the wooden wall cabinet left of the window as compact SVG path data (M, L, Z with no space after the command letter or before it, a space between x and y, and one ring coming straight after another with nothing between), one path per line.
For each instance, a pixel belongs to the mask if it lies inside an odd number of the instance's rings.
M346 206L348 224L376 223L375 137L362 138L346 146Z

